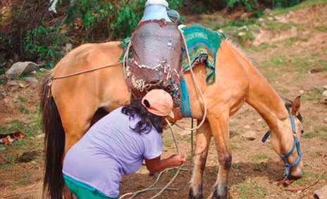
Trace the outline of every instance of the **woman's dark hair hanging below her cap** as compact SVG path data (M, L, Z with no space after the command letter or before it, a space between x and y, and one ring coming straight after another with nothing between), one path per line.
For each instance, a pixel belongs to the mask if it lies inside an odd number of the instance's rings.
M141 101L142 98L137 98L129 105L124 105L123 109L121 110L121 113L129 115L130 118L134 118L135 115L141 118L140 122L137 122L134 129L132 127L130 128L136 131L137 133L148 133L149 131L151 131L152 127L154 127L156 131L162 133L163 124L161 122L163 120L163 116L158 116L149 113L149 111L147 111L147 108L142 105ZM144 104L148 107L150 106L148 101L144 101Z

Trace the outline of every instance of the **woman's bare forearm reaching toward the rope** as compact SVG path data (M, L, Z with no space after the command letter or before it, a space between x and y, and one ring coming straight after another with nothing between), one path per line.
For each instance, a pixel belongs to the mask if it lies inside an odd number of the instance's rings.
M161 172L168 167L178 167L186 162L185 155L183 153L171 155L171 157L161 160L161 155L157 158L146 159L145 165L151 173Z

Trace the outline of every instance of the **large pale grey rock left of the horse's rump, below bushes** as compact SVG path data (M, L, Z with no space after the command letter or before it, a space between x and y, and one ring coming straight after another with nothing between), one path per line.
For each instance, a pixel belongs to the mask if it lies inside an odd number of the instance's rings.
M39 65L30 61L14 63L11 68L6 71L6 77L8 79L14 79L23 72L29 73L33 70L37 70L37 68L39 68Z

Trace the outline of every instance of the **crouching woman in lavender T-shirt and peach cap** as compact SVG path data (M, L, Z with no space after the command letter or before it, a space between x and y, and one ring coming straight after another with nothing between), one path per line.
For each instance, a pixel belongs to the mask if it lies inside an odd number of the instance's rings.
M67 188L79 199L118 198L122 176L137 172L143 160L152 173L186 162L183 154L161 160L164 118L173 117L172 108L171 95L154 89L101 118L63 160Z

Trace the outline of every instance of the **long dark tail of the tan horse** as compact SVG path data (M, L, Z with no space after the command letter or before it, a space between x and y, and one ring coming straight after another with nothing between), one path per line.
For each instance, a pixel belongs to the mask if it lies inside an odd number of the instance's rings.
M51 78L44 78L40 92L42 128L45 134L43 198L61 199L64 184L62 158L65 148L65 131L56 103L51 96Z

